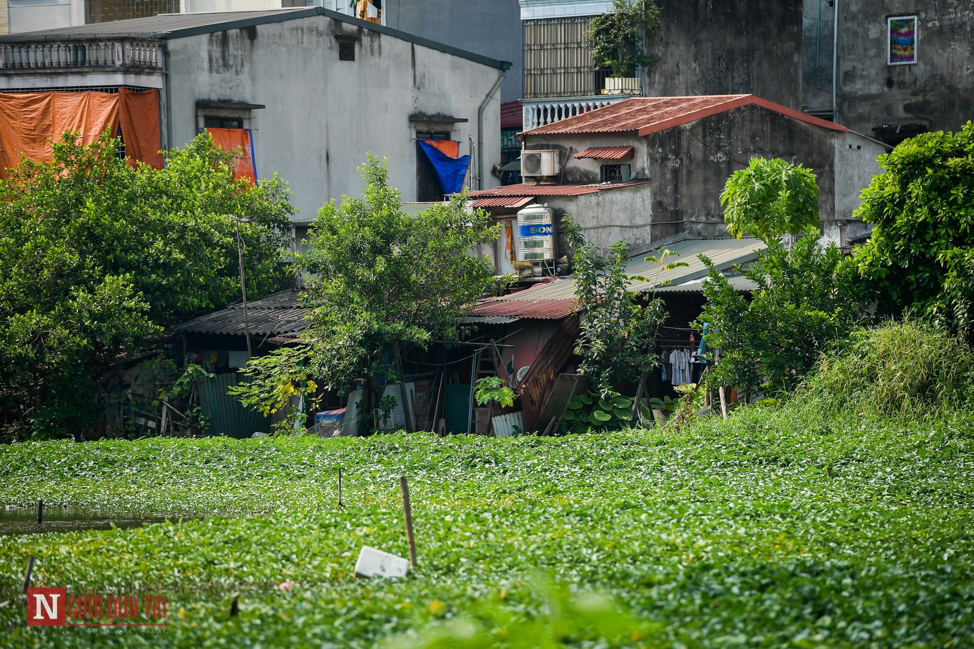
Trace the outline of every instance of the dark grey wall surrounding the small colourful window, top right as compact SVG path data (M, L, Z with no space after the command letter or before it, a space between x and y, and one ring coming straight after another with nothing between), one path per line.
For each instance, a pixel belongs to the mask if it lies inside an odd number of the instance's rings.
M918 123L956 130L974 119L974 4L970 0L841 0L839 121ZM918 62L886 64L886 18L918 15Z

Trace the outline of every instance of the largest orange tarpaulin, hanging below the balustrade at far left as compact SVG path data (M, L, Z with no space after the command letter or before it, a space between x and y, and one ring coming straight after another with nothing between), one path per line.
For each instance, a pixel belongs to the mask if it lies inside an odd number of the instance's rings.
M81 142L91 144L106 126L117 134L120 123L130 158L162 168L159 90L0 92L0 175L19 165L21 153L50 162L52 140L59 142L65 130L79 131Z

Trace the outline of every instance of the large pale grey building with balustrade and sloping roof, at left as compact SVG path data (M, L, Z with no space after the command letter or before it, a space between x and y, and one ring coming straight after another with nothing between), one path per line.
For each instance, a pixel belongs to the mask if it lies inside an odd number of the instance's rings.
M498 184L509 63L321 8L67 27L0 38L0 54L3 92L158 91L164 149L209 126L249 129L256 175L280 173L303 220L361 192L366 152L416 200L430 182L417 138L459 140L462 154L482 142L468 184Z

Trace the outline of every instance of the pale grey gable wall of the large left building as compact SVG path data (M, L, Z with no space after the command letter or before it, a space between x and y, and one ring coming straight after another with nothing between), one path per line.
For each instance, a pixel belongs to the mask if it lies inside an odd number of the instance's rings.
M338 59L335 35L356 40L356 60ZM288 180L300 219L329 198L358 196L356 169L371 152L388 158L390 182L416 200L416 128L411 114L466 119L451 137L476 138L477 107L500 70L393 36L316 16L169 41L171 137L176 146L200 126L196 101L265 104L253 110L257 173ZM500 96L484 114L484 166L501 160ZM435 126L435 127L433 127ZM484 189L497 179L484 174Z

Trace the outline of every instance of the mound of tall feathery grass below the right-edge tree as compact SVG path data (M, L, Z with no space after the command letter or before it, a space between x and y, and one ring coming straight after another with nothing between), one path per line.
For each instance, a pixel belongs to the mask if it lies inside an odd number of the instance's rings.
M804 396L830 413L919 420L955 412L974 402L974 350L918 320L860 329L822 356Z

